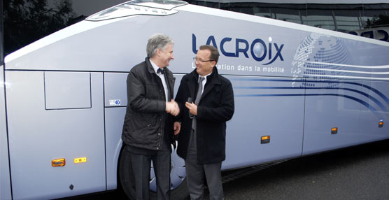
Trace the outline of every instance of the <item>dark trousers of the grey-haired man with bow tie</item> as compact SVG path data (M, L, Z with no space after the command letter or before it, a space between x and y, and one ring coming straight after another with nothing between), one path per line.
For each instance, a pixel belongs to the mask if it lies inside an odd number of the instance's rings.
M136 199L150 199L151 161L157 183L157 199L170 199L170 150L158 151L155 155L131 153L135 177Z

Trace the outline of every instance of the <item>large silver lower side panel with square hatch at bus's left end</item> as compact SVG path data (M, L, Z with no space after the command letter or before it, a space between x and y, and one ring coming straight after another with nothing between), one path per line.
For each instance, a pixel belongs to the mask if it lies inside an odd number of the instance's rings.
M13 198L105 190L102 73L6 71L6 83Z

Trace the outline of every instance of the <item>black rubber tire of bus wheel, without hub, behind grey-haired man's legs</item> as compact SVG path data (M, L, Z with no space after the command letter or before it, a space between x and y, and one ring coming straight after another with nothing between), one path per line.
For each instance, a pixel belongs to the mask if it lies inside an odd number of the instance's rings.
M127 195L129 199L136 199L135 191L135 181L134 173L132 171L132 161L131 154L125 149L122 149L120 154L119 169L118 169L118 178L120 180L120 185L122 186L123 192ZM170 199L172 200L181 200L188 197L188 185L186 183L186 178L183 182L178 185L178 187L171 190ZM157 199L157 193L150 190L150 199Z

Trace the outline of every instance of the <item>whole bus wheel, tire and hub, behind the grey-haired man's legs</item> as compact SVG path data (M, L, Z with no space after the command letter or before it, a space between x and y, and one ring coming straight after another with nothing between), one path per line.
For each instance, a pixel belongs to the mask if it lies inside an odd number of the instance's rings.
M127 150L122 150L119 162L119 179L122 185L122 190L129 199L135 199L134 174L132 172L132 162L130 153ZM176 151L171 153L171 199L180 200L188 197L188 185L186 183L185 162L178 157ZM157 185L155 183L155 175L153 165L150 171L150 199L157 199Z

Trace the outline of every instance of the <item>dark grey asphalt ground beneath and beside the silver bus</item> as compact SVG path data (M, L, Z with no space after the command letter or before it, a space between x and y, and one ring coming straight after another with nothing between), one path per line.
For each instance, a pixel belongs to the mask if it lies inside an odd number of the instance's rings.
M240 169L224 174L239 174ZM242 176L243 174L243 176ZM389 140L290 159L223 184L225 199L389 200ZM126 199L119 192L81 199ZM208 197L206 197L208 199Z

